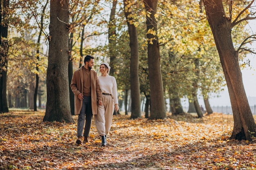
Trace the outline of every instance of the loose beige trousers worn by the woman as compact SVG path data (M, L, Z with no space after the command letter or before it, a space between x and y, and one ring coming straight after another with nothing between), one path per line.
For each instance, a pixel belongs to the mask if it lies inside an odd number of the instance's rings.
M103 105L98 105L98 114L94 115L94 122L100 136L108 135L112 124L115 109L114 100L111 95L102 95Z

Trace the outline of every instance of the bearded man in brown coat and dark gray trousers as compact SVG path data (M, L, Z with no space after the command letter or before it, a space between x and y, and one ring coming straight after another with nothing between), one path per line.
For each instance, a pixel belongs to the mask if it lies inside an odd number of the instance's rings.
M97 104L102 104L102 95L99 88L97 72L92 70L94 57L86 55L84 66L74 71L70 87L75 97L75 115L77 120L76 144L88 142L89 132L92 124L92 115L97 114ZM85 130L83 126L85 121Z

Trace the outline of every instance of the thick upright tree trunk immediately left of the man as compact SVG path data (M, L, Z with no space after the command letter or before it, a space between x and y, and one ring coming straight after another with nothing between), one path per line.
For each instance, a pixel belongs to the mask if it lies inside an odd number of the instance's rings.
M74 123L68 97L68 6L68 0L50 1L47 104L43 121Z

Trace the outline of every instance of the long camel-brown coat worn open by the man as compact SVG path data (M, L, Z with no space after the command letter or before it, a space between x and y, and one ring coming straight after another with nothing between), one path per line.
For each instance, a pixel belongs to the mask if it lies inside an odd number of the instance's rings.
M82 109L83 101L80 100L77 95L80 93L83 94L83 66L74 71L73 77L71 80L71 90L74 93L75 98L75 115L79 115ZM91 75L91 97L92 97L92 114L97 115L97 104L98 100L102 100L101 90L99 88L99 81L97 77L97 72L94 70L90 70Z

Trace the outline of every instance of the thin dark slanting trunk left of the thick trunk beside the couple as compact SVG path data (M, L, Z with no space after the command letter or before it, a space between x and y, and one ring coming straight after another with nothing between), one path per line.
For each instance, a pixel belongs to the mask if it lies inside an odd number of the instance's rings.
M47 0L45 2L45 6L43 7L43 11L41 13L41 21L40 21L40 31L39 31L39 35L38 35L38 39L37 39L37 50L36 50L36 87L35 87L35 91L34 91L34 111L37 110L37 105L36 105L36 98L37 98L37 93L38 93L38 85L39 85L39 60L40 60L40 55L39 55L39 46L40 46L40 39L41 39L41 35L43 33L43 20L44 20L44 15L45 15L45 9L47 7L49 0Z

